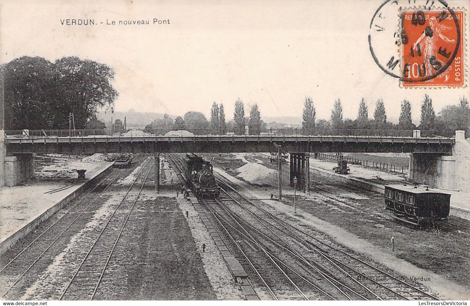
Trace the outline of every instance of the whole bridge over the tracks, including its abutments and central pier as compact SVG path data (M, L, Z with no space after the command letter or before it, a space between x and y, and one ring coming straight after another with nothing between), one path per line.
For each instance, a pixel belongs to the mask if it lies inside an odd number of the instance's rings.
M305 153L310 152L412 153L410 159L412 178L422 176L422 172L425 171L424 176L433 177L433 182L436 182L435 178L438 176L445 177L447 181L454 172L453 167L448 167L450 163L447 161L453 161L452 154L456 141L462 138L465 140L462 132L457 131L455 137L454 133L422 130L0 131L1 167L4 169L4 177L0 178L0 184L14 185L29 176L33 169L31 167L34 160L33 153L155 153L158 155L186 152L277 151L291 153L291 174L301 177L300 182L309 181L308 158L305 158ZM420 167L423 163L434 164L431 172L429 166ZM445 166L442 166L444 164ZM439 173L440 171L445 173Z

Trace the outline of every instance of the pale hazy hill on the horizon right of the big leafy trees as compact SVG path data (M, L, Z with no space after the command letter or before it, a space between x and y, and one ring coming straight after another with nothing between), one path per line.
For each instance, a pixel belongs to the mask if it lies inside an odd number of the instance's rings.
M104 113L104 111L99 111L98 112L98 120L106 123L106 127L110 126L111 123L111 117L113 118L113 122L116 119L121 119L121 121L124 122L124 117L126 120L127 128L145 128L147 124L152 122L155 119L158 118L163 118L164 114L160 113L153 113L153 112L135 112L133 110L127 111L127 112L107 112ZM176 116L170 115L170 117L174 120Z

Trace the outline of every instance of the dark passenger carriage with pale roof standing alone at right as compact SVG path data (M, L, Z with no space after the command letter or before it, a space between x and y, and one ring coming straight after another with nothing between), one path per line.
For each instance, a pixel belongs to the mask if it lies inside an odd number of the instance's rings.
M426 186L386 185L385 209L416 225L442 221L449 215L450 194Z

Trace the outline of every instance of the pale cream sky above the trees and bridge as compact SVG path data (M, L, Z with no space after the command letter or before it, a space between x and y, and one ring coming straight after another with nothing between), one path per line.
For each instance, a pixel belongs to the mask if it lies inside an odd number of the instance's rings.
M460 7L470 3L448 2ZM181 116L199 111L209 118L216 101L231 119L237 98L246 114L258 103L262 117L301 116L309 96L317 119L329 119L338 98L344 117L355 119L363 97L369 117L376 100L383 99L389 118L398 118L400 102L407 99L419 123L425 93L436 113L458 104L461 96L470 98L469 86L400 88L396 78L376 65L368 34L381 3L3 0L0 62L24 55L99 61L116 72L116 110ZM154 24L154 18L167 23ZM66 25L66 19L92 19L95 24ZM149 24L119 24L134 20ZM107 24L112 21L116 24ZM467 17L466 40L468 27Z

